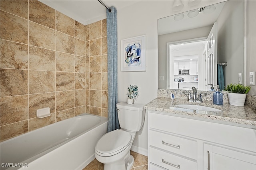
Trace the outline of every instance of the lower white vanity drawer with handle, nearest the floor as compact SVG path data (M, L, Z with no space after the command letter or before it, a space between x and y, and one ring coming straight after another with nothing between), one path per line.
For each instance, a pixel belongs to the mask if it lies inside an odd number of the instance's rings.
M197 163L173 154L169 154L155 148L149 147L149 161L169 170L197 169Z

